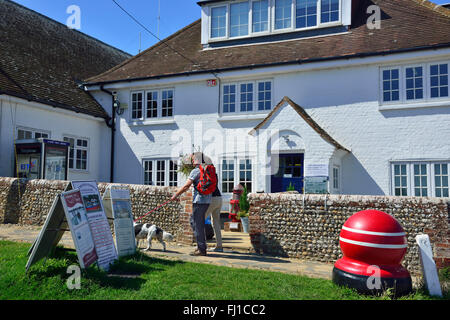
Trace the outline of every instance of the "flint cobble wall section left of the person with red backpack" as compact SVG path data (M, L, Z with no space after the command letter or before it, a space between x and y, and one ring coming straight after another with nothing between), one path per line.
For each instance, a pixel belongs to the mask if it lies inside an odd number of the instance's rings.
M0 178L0 223L20 225L43 225L55 196L67 187L67 181L18 180ZM109 183L98 183L103 195ZM112 184L130 190L131 206L135 218L166 202L175 192L174 187L155 187L130 184ZM188 191L178 201L143 218L144 223L153 223L172 233L177 241L193 242L189 224L192 212L192 193Z

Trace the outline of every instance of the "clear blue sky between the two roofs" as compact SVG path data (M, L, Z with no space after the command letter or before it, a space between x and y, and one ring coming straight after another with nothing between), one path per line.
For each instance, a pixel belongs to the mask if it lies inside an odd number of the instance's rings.
M112 0L13 0L61 23L70 14L67 8L77 5L81 11L81 29L94 38L130 54L139 52L139 34L142 50L157 42L138 24L121 11ZM116 0L150 31L157 34L158 0ZM434 0L437 4L450 0ZM200 18L197 0L161 0L159 38L163 39Z

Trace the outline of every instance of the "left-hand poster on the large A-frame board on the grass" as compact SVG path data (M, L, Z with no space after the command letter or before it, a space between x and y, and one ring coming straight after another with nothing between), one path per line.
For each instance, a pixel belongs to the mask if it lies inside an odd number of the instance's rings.
M64 192L61 194L61 200L80 267L87 268L97 261L98 257L81 193L77 189Z

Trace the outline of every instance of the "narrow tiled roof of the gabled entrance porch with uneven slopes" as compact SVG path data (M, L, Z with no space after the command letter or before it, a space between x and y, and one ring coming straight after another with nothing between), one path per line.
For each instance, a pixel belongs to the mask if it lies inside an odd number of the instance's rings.
M249 132L249 134L253 135L257 130L262 128L264 124L266 124L274 116L274 114L285 104L291 106L298 113L298 115L302 117L303 120L322 137L322 139L334 145L337 149L350 152L348 149L344 148L339 142L334 140L324 129L322 129L322 127L319 126L319 124L316 121L314 121L313 118L310 117L310 115L305 111L305 109L303 109L301 106L296 104L288 97L284 97L283 99L281 99L281 101L275 106L275 108L273 108L273 110L264 118L264 120L261 121L256 127L254 127Z

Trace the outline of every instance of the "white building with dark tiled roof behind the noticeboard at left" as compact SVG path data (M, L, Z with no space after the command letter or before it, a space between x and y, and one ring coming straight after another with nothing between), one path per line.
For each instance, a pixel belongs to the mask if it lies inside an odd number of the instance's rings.
M67 165L70 180L110 181L112 119L79 83L130 55L8 0L0 38L0 176L38 177L42 161L16 166L15 143L45 138L70 144L53 178Z

